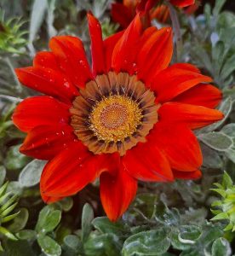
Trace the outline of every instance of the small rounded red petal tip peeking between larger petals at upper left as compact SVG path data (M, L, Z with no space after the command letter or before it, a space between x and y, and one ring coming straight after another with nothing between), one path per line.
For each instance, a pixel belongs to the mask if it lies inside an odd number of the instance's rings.
M33 59L34 67L49 67L50 69L60 70L54 54L49 51L40 51Z

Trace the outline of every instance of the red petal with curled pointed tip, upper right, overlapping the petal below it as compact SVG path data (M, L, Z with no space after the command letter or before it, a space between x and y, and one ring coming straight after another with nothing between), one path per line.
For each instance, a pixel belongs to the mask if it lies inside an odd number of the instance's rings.
M169 102L193 86L211 80L190 64L175 64L158 73L153 79L151 88L157 94L157 102Z

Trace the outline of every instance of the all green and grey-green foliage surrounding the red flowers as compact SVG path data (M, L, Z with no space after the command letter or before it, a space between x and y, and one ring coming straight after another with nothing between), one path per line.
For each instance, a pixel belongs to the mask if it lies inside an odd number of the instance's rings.
M191 16L177 10L182 38L174 62L196 64L224 93L219 108L225 119L196 131L203 149L203 178L140 183L134 203L117 223L101 217L98 182L50 206L40 199L38 182L45 161L19 153L25 134L11 121L15 106L35 92L20 85L14 67L30 66L35 52L48 49L49 38L58 34L82 38L89 56L86 11L100 20L106 38L118 29L110 18L111 2L0 0L0 185L8 181L0 189L0 255L235 255L231 0L203 1ZM165 26L156 21L153 25Z

